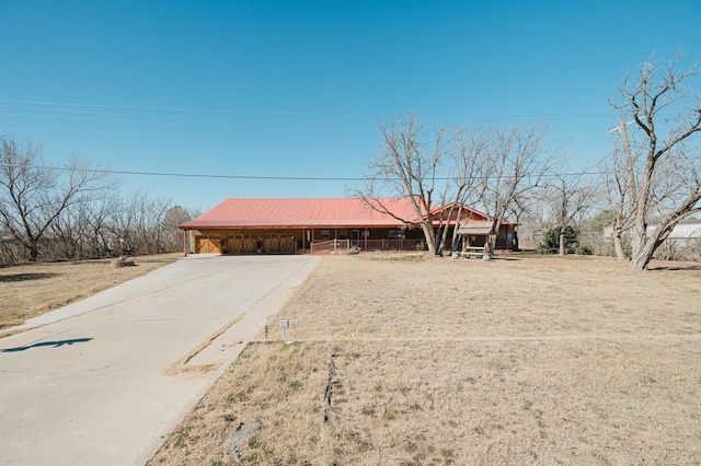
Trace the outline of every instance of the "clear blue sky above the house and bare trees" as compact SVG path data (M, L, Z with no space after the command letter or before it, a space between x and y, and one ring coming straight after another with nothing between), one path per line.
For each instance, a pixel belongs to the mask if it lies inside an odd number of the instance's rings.
M653 51L701 58L701 2L0 3L0 133L56 162L253 177L359 177L378 121L531 125L579 168L611 150L608 102ZM344 180L123 175L125 193L342 197Z

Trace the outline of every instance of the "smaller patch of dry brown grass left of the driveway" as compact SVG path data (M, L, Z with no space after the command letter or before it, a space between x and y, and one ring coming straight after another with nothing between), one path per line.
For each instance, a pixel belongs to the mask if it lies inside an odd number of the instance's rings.
M136 256L136 267L112 267L111 259L30 264L0 268L0 329L80 301L153 269L181 254Z

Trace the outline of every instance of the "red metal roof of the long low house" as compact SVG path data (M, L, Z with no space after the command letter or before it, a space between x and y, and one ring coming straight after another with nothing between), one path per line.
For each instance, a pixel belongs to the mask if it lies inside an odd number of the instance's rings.
M410 199L380 199L380 202L409 223L418 223ZM468 207L464 209L475 213L472 221L487 220L482 212ZM437 218L433 223L438 225ZM455 219L450 223L455 224ZM364 200L356 198L233 198L226 199L180 228L399 228L403 224L392 215L370 209Z

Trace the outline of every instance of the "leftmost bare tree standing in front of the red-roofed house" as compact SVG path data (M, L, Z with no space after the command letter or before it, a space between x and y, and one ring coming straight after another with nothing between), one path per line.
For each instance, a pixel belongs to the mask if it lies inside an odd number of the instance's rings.
M436 131L433 147L428 147L424 142L425 126L413 112L393 117L379 128L382 152L368 163L366 187L353 193L371 209L404 224L420 223L428 251L438 253L430 213L437 175L445 159L445 131ZM409 199L412 218L399 212L387 198Z

